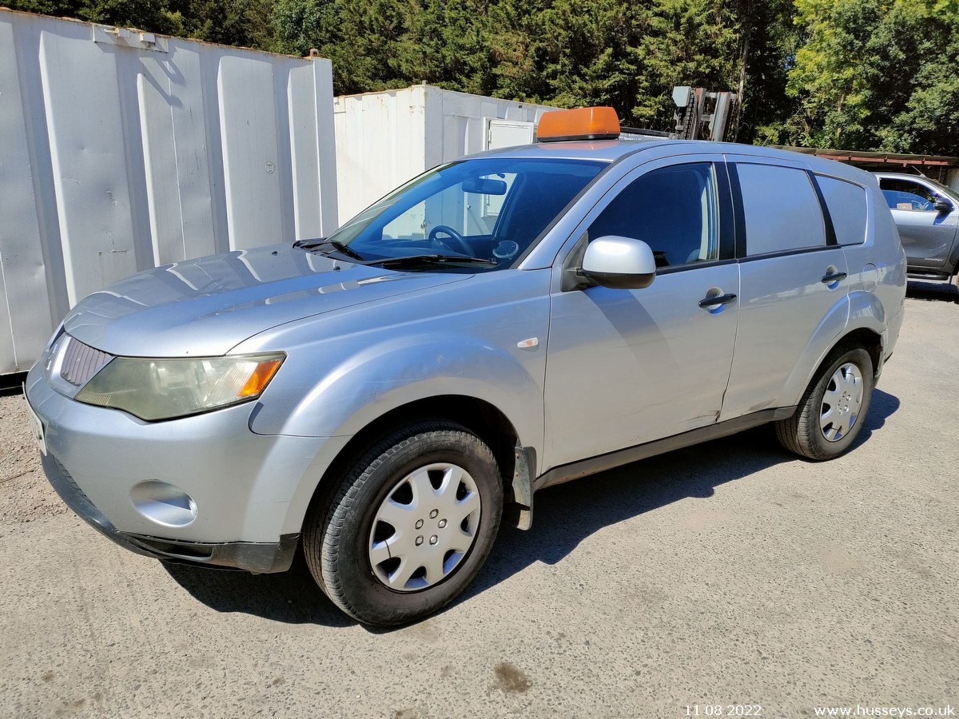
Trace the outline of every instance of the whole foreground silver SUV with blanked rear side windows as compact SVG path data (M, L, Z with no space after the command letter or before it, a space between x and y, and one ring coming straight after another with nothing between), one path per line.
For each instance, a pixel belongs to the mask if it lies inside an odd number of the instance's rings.
M876 179L563 131L326 239L86 297L26 386L59 495L166 561L273 572L302 546L386 625L462 591L544 487L769 422L803 457L848 450L902 322Z

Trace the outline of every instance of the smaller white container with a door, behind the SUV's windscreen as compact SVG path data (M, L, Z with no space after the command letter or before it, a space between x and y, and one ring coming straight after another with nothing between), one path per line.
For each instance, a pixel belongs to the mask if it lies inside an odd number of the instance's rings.
M339 96L334 103L339 220L349 220L436 165L531 143L539 118L552 109L428 84Z

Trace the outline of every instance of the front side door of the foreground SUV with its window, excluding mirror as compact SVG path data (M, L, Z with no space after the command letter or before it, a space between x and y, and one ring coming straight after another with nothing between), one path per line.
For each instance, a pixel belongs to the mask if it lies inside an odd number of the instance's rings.
M587 215L560 258L603 235L643 240L657 275L643 290L562 290L554 269L543 470L716 422L736 341L739 270L721 155L642 165Z

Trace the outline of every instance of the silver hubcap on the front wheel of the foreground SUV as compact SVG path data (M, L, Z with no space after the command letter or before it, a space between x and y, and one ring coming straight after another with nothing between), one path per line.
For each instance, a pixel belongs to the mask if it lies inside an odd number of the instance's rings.
M376 578L396 591L431 587L476 541L479 490L462 467L437 462L403 477L377 510L369 537Z

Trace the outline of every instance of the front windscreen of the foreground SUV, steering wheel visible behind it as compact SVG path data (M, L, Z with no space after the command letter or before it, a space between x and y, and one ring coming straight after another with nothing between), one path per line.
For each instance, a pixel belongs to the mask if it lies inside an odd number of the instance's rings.
M435 253L492 261L468 271L510 267L603 167L547 158L462 160L409 181L328 241L349 245L365 261Z

